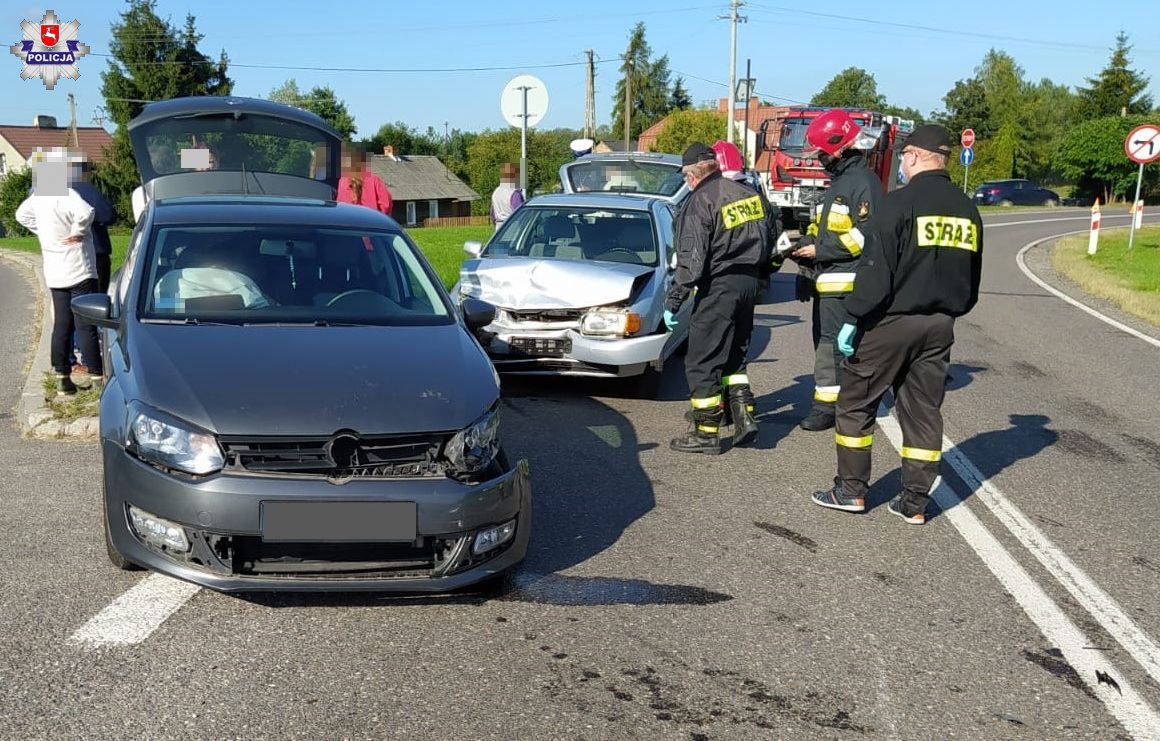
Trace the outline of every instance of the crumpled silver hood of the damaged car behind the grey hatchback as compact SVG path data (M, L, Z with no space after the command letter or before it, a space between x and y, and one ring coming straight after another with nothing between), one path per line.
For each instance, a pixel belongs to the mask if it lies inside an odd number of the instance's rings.
M499 257L464 264L467 295L503 308L587 308L629 300L655 268L617 262Z

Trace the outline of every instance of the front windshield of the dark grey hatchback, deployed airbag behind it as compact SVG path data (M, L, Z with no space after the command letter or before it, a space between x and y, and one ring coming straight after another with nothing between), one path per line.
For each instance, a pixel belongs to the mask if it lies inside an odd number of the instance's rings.
M142 317L196 324L454 321L401 232L166 226L145 262Z

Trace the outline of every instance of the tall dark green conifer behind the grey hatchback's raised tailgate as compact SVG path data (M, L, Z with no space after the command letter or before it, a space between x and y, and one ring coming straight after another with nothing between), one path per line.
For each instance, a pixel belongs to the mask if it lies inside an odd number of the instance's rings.
M101 94L109 117L117 125L107 159L94 168L93 181L117 206L122 220L131 220L130 194L140 184L129 144L128 124L145 103L188 95L229 95L229 58L223 50L213 61L197 49L202 35L193 15L179 30L157 14L155 0L130 0L113 23L108 68L101 73Z

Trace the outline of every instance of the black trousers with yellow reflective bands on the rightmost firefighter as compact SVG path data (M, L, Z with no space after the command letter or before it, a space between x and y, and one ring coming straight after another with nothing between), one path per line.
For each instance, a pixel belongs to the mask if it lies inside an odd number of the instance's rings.
M841 364L838 399L838 477L847 496L870 486L870 450L878 405L894 390L902 428L902 489L909 504L925 507L942 458L942 402L955 343L955 320L945 314L887 315L857 341Z

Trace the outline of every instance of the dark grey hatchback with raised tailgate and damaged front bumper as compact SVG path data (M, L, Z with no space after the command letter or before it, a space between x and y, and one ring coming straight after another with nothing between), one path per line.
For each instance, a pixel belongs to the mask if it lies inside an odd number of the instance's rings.
M516 566L528 466L473 336L494 308L455 305L393 219L334 202L340 141L312 114L180 99L129 133L147 206L109 293L73 303L103 327L114 565L225 591L444 591Z

